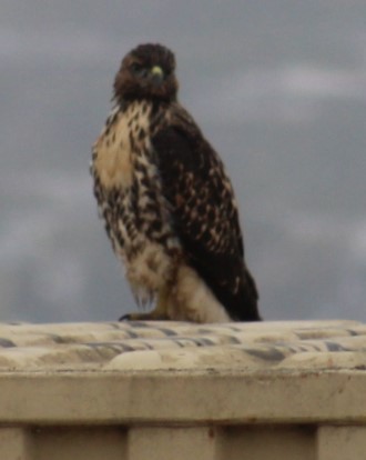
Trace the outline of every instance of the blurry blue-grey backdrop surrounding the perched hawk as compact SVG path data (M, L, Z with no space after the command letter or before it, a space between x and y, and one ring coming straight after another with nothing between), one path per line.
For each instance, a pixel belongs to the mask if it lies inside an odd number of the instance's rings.
M89 176L122 57L176 54L265 319L366 320L364 0L2 0L0 321L135 310Z

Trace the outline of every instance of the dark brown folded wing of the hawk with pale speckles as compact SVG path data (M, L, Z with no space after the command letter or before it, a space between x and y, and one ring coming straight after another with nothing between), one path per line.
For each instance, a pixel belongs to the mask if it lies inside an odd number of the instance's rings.
M157 131L152 143L187 263L233 320L261 319L255 282L244 263L233 189L218 156L186 117Z

